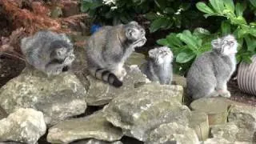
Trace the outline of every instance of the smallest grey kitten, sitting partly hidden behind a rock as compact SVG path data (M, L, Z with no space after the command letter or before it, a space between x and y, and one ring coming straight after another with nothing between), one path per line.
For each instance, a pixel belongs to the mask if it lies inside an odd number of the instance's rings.
M166 46L150 50L149 60L141 66L142 73L146 74L150 81L170 84L173 78L173 57L170 48Z

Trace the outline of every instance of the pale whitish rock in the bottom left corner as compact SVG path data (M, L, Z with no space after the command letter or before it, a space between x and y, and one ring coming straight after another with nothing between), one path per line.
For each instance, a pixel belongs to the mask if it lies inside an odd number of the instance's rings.
M33 109L18 109L0 120L0 142L15 141L34 144L46 133L43 114Z

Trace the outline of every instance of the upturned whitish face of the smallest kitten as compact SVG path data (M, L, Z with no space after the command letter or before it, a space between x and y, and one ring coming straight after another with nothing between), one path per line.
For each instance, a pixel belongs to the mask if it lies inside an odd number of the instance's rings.
M173 61L173 53L170 51L170 48L167 46L162 46L158 48L154 48L149 51L150 58L154 59L154 62L158 64L162 64L164 62L172 62Z

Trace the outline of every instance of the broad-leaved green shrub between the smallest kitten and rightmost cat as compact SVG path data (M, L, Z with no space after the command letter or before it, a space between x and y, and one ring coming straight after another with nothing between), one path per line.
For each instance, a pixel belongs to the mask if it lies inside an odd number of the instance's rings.
M174 72L186 74L194 58L210 50L210 42L214 34L208 30L196 28L193 33L184 30L182 33L170 33L166 38L159 39L157 43L169 46L174 53Z

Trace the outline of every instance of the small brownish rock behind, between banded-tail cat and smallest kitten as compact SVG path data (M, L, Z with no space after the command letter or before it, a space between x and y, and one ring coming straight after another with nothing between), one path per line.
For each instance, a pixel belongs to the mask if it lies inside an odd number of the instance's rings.
M140 67L143 63L146 62L144 54L133 52L130 54L130 57L126 60L126 65L138 65Z

